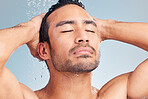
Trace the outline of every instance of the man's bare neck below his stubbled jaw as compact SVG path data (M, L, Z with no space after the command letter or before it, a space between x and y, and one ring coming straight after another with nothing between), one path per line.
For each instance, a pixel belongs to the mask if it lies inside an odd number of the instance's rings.
M54 72L45 88L50 99L92 99L91 73Z

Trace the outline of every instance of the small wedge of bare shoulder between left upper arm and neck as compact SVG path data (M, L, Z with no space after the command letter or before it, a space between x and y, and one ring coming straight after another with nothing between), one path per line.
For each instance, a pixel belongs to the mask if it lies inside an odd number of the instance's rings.
M39 99L34 91L28 88L26 85L20 83L24 99Z

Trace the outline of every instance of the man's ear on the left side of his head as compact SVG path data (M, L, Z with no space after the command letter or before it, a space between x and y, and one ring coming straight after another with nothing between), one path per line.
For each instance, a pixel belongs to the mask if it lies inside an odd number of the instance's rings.
M49 52L49 45L47 42L44 43L38 43L37 46L37 52L38 55L40 56L40 58L42 58L42 60L47 60L50 59L50 52Z

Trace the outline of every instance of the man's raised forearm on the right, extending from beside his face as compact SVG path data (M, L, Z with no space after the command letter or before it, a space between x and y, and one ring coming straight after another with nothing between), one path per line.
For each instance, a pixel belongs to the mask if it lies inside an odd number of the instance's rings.
M98 26L103 40L114 39L148 51L148 23L98 20Z

